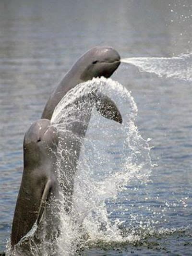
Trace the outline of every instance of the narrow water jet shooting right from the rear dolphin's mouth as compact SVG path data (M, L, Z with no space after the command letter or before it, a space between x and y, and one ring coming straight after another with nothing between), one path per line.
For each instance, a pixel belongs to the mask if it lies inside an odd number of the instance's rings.
M177 57L138 57L121 59L132 64L142 72L155 73L168 78L192 81L192 53Z

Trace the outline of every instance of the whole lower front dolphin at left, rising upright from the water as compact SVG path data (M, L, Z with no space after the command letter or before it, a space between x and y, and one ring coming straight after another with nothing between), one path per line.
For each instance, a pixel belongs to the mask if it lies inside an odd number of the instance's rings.
M25 133L24 170L12 222L11 255L32 255L32 244L41 248L45 241L54 244L58 235L59 218L53 214L59 199L57 146L58 134L49 120L34 122ZM35 224L36 231L27 237Z

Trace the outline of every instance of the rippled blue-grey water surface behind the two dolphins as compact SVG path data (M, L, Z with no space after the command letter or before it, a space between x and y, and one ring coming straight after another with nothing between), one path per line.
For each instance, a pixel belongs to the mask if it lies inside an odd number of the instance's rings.
M190 0L0 1L0 251L21 182L24 133L61 76L96 45L110 45L122 58L190 55L191 15ZM178 72L189 68L191 77L190 63L174 63ZM151 138L153 167L150 182L128 183L106 202L116 209L111 220L124 221L123 235L140 239L96 241L81 254L191 255L191 81L123 63L112 78L132 91L135 123L143 138Z

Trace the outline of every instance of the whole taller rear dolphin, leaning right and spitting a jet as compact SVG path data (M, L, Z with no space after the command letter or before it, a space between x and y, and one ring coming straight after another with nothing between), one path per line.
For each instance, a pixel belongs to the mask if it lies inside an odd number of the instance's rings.
M120 55L111 47L95 47L87 51L75 62L54 89L45 106L42 118L51 119L60 100L76 85L94 77L108 78L119 65ZM97 91L76 99L73 108L68 110L70 122L66 123L65 131L61 134L62 159L60 165L63 174L60 185L63 187L67 210L70 210L74 174L94 106L105 118L122 123L121 114L116 104Z

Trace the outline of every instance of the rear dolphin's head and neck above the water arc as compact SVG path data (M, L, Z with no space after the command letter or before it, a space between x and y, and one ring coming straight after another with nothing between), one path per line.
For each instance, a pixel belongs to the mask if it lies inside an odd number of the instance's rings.
M85 52L54 89L41 118L51 119L63 96L75 85L94 77L110 77L120 65L120 55L112 47L97 46Z

